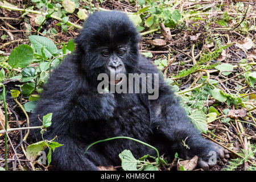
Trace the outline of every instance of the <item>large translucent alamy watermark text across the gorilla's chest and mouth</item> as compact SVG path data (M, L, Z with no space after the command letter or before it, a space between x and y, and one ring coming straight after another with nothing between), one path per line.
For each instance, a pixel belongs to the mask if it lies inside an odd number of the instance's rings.
M97 77L100 84L97 86L98 93L104 93L105 88L110 93L148 93L148 100L156 100L159 96L159 74L158 73L118 73L109 75L100 73ZM109 86L110 85L110 86Z

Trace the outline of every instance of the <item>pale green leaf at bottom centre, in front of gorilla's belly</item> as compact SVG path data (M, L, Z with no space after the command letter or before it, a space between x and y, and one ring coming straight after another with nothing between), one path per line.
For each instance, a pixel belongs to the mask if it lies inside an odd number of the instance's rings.
M137 164L139 160L135 159L130 150L124 150L119 154L119 158L122 161L122 168L125 171L138 171Z

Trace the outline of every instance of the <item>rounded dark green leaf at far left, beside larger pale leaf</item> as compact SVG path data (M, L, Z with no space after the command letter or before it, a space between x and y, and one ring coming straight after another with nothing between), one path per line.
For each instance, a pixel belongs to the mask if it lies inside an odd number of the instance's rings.
M28 45L19 45L11 51L8 64L11 68L25 68L33 59L34 51Z

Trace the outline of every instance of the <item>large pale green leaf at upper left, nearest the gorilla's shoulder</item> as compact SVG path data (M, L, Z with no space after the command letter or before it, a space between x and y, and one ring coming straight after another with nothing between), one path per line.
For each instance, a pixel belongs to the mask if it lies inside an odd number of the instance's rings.
M28 37L30 39L30 42L34 45L36 49L36 53L42 56L42 47L44 46L44 54L47 58L50 58L57 54L57 47L52 42L52 40L44 37L44 36L38 36L38 35L31 35Z

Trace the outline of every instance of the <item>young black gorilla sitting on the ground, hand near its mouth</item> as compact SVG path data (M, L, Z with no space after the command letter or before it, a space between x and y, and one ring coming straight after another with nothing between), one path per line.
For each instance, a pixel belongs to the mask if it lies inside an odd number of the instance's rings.
M142 140L161 154L174 156L177 152L183 159L197 155L203 169L214 166L214 160L210 160L213 154L220 163L229 158L227 150L201 137L162 77L156 99L148 99L150 94L142 93L142 88L137 93L98 92L100 73L109 77L112 73L159 74L155 65L139 54L139 41L125 13L98 12L86 19L75 40L75 52L53 71L31 115L31 125L38 126L38 115L42 118L53 113L52 126L44 138L50 140L57 135L57 142L64 144L52 153L56 168L97 170L96 166L120 165L118 154L125 149L135 158L155 155L151 148L127 139L98 143L85 154L89 144L117 136ZM123 81L110 79L108 83L117 86ZM32 135L41 140L39 130L33 130Z

